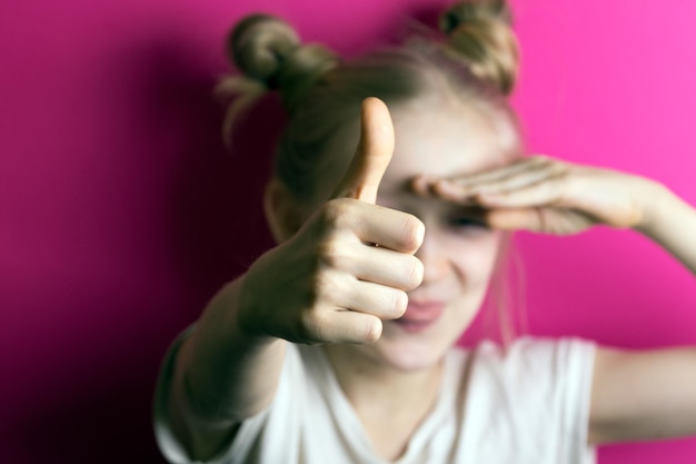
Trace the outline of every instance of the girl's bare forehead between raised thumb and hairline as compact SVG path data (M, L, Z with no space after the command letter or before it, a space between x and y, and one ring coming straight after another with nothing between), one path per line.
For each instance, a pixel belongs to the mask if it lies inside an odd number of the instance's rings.
M504 115L464 102L414 101L391 109L396 148L382 188L415 176L453 177L503 165L519 150Z

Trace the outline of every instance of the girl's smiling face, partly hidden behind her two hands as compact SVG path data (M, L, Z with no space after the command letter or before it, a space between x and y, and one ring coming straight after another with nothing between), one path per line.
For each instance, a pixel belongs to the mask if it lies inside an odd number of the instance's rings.
M481 211L424 198L411 189L418 176L456 177L509 161L518 154L516 129L459 101L418 99L391 108L396 150L380 185L379 205L410 213L426 226L416 256L425 277L409 293L406 314L384 323L381 338L351 346L400 369L434 365L466 330L494 273L501 233L486 227Z

